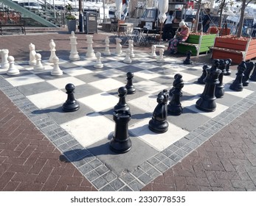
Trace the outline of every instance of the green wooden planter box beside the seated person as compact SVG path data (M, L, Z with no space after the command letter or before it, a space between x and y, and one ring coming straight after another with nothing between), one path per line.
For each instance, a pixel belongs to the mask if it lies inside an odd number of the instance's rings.
M216 35L189 35L186 42L179 43L178 51L186 54L187 51L192 51L193 56L200 53L210 51L213 46Z

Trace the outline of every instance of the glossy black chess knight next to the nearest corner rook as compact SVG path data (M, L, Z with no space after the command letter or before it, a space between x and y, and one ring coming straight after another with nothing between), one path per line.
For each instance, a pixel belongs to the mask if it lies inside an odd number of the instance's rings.
M153 111L153 116L148 123L148 128L156 133L164 133L168 129L167 122L167 102L168 102L168 92L163 90L157 96L157 102L155 110Z

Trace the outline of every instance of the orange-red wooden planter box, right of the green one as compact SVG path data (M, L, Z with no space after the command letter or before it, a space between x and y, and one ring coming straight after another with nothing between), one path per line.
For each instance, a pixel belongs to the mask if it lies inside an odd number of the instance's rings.
M232 59L232 63L252 60L256 57L256 40L248 38L239 40L235 36L230 38L216 38L212 47L212 59Z

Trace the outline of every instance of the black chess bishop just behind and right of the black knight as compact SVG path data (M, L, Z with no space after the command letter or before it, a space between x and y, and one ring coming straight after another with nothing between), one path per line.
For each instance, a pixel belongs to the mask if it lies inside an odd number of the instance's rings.
M182 107L180 102L180 96L181 96L181 89L184 87L184 82L182 79L181 74L176 74L178 77L173 82L173 96L170 100L169 104L167 105L167 113L179 116L182 113Z

